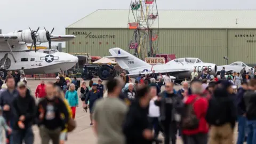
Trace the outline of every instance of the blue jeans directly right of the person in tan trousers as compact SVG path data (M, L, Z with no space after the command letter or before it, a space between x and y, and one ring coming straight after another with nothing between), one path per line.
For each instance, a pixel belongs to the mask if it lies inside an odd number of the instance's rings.
M246 134L246 127L247 127L247 118L245 116L238 116L238 138L237 144L243 144L244 138Z

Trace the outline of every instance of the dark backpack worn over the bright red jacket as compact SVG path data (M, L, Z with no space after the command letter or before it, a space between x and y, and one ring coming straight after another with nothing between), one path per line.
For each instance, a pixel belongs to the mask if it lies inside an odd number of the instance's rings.
M194 103L199 98L195 98L193 102L185 105L185 115L182 118L181 126L185 130L194 130L199 127L199 119L197 118L194 110Z

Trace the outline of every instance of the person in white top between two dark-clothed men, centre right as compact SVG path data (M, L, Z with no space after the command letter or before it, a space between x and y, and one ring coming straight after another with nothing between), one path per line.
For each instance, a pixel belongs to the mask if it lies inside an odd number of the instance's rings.
M149 110L148 110L148 117L149 123L151 124L151 128L154 128L154 139L156 140L159 134L159 124L158 124L158 117L160 116L160 109L158 106L155 105L155 101L158 99L157 97L157 89L156 87L150 87L150 94L151 100L149 102Z

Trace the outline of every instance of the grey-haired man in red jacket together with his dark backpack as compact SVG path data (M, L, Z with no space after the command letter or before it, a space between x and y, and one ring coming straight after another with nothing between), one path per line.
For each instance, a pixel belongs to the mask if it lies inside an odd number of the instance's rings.
M201 97L203 87L198 79L191 81L190 90L192 94L184 100L185 107L181 120L183 143L206 144L208 125L205 115L208 101Z

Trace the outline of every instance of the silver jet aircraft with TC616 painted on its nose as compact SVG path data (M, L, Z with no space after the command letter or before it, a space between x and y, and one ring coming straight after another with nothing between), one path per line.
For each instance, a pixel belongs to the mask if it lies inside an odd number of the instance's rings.
M153 70L155 73L165 75L168 73L175 82L182 82L185 78L190 79L190 75L196 69L199 76L201 76L203 69L207 68L210 75L217 73L217 66L214 63L204 63L198 58L180 58L169 61L163 65L149 65L145 61L134 57L132 54L116 47L109 49L112 56L108 58L115 58L118 65L126 70L131 77L136 77L139 74L151 74Z

